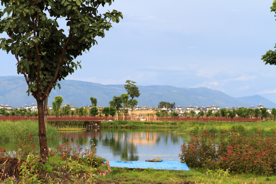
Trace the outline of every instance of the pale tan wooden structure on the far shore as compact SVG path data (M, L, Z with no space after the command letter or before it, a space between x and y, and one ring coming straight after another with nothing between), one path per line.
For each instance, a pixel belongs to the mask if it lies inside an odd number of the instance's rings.
M157 121L155 110L133 110L131 121Z

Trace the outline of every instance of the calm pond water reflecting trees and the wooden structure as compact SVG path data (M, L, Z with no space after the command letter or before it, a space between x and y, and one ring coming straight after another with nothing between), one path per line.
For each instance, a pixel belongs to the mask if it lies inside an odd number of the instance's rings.
M180 162L180 146L190 139L190 135L162 131L95 130L60 134L60 140L48 141L49 147L55 148L62 143L72 142L75 137L76 145L91 149L93 140L97 154L107 160L145 160L160 157L163 160Z

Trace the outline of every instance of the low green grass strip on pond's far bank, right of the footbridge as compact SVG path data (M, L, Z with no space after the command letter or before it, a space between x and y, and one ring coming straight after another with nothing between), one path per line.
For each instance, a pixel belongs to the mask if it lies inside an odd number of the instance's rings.
M208 129L210 132L220 133L223 130L238 130L241 133L256 132L258 129L265 134L276 130L276 122L134 122L112 121L102 122L104 129L170 129L175 133L197 134Z

